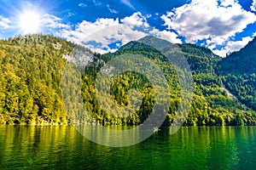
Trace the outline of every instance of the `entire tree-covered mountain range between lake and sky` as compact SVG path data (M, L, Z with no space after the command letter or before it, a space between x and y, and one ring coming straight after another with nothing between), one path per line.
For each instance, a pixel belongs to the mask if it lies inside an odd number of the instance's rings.
M28 35L0 41L0 123L70 122L62 101L61 73L68 60L82 60L86 66L82 68L81 93L84 105L92 117L84 121L103 125L141 124L148 118L154 106L154 90L146 77L128 71L112 82L111 98L119 107L129 104L127 94L131 88L137 88L141 92L142 105L131 116L109 115L98 104L95 94L96 75L103 65L120 54L140 54L160 65L171 87L169 111L164 124L177 124L177 107L180 103L177 73L166 56L151 47L150 42L157 42L158 48L167 43L154 37L144 37L138 42L127 43L113 54L101 55L92 54L90 50L60 38L44 35ZM243 72L241 76L240 73L232 71L234 69L230 69L230 66L224 65L228 59L240 56L239 53L251 58L249 52L253 52L255 45L248 44L241 52L231 54L223 60L207 48L192 44L173 44L173 48L177 47L188 60L194 79L193 101L184 125L254 125L255 71L250 72L252 74ZM74 48L77 51L74 52ZM82 56L79 54L81 51L89 57L72 57L74 54ZM232 62L228 63L231 65ZM234 80L237 81L236 84L233 83ZM228 94L225 88L230 89L237 99Z

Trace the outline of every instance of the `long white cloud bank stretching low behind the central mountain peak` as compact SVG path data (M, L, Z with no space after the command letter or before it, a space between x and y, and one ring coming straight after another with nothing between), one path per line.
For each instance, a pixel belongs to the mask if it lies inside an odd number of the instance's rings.
M95 22L84 20L74 30L62 29L60 37L82 44L97 53L116 51L127 42L136 41L147 35L153 35L170 42L181 42L172 31L160 31L148 25L147 17L137 12L124 19L98 19ZM114 44L114 47L111 45Z

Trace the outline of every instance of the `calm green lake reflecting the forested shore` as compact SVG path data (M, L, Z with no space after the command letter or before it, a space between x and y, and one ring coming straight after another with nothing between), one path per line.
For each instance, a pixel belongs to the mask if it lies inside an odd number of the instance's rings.
M95 144L73 126L0 126L0 169L253 169L256 127L169 128L142 143Z

